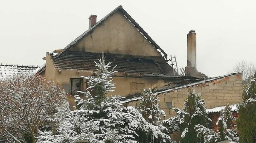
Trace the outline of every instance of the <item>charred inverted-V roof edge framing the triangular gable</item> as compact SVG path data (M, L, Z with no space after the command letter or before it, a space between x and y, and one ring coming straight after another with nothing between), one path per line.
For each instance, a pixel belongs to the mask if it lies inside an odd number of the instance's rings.
M118 6L117 8L115 8L113 11L111 11L108 15L106 15L105 17L103 17L101 20L99 20L99 22L97 22L95 25L93 25L93 27L89 28L87 31L85 31L83 34L81 34L80 36L78 36L74 41L72 41L69 45L67 45L64 50L62 51L65 52L66 50L70 49L73 45L75 45L77 42L79 42L84 36L86 36L87 34L90 34L93 32L93 29L96 28L97 26L99 26L102 22L104 22L108 17L110 17L111 15L113 15L116 11L120 11L122 12L122 14L125 16L125 18L127 18L127 20L129 22L131 22L132 25L134 25L135 28L137 28L137 30L145 37L145 39L148 40L148 42L150 42L154 48L156 48L157 50L160 50L158 52L163 53L163 55L166 57L167 59L167 54L163 51L163 49L161 49L159 47L159 45L157 45L156 42L154 42L154 40L143 30L142 27L140 27L140 25L135 22L135 20L122 8L122 6Z

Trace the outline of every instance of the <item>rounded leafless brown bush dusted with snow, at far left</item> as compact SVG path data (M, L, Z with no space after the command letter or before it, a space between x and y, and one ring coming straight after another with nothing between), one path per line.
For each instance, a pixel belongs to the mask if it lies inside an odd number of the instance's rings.
M68 111L64 90L53 81L17 74L0 83L0 139L35 143L38 130L49 130Z

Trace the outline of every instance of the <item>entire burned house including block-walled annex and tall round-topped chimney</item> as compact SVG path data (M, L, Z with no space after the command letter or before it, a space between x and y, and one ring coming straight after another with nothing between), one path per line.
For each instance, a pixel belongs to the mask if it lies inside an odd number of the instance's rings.
M185 75L179 75L167 54L140 25L118 6L102 20L89 17L89 29L67 47L47 53L46 64L37 74L58 81L72 102L72 95L85 91L87 81L81 76L93 76L95 61L104 54L105 62L112 62L117 73L113 80L116 92L128 98L129 105L137 106L138 94L143 88L154 88L159 94L160 108L167 117L175 115L172 108L182 108L188 89L206 101L208 109L236 104L242 100L241 73L208 78L196 69L196 33L187 35L187 66Z

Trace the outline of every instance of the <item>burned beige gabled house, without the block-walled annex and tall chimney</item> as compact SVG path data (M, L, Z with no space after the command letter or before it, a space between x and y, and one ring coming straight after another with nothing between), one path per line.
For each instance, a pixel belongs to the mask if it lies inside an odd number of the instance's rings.
M89 17L89 29L67 47L47 53L46 64L38 71L49 79L59 81L66 93L73 95L86 90L81 76L91 76L95 61L104 53L106 62L117 65L113 80L115 95L138 93L143 88L162 86L169 82L187 82L198 79L177 77L168 63L167 54L135 20L118 6L99 22L96 15ZM183 80L187 79L187 80Z

